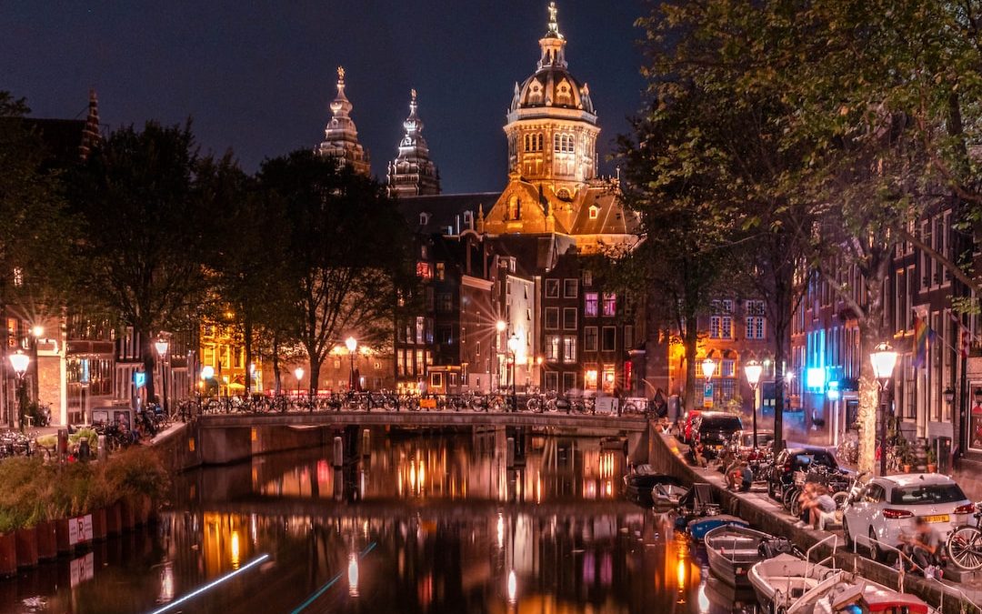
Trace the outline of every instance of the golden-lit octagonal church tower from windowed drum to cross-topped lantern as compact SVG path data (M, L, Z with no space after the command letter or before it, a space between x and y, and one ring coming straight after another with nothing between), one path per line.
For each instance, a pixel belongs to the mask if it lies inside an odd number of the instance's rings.
M568 70L557 13L556 3L550 3L548 29L539 39L541 57L535 73L515 85L505 134L513 176L571 198L595 176L600 128L589 87Z

